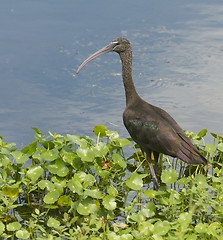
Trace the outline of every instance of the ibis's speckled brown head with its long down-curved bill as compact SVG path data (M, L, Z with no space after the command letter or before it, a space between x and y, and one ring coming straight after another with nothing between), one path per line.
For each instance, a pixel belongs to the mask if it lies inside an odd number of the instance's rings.
M78 74L81 70L81 68L86 65L88 62L93 60L94 58L108 52L117 52L119 55L125 52L126 50L130 49L131 50L131 44L128 39L126 38L116 38L114 39L110 44L107 46L103 47L99 51L93 53L90 57L88 57L77 69L76 73Z

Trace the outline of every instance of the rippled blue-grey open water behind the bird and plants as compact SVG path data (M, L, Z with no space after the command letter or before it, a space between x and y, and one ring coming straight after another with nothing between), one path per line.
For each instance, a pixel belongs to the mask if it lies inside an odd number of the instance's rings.
M92 135L103 124L127 137L119 56L74 74L119 36L132 43L145 100L186 130L222 134L222 27L221 1L1 1L0 135L20 148L32 141L31 127Z

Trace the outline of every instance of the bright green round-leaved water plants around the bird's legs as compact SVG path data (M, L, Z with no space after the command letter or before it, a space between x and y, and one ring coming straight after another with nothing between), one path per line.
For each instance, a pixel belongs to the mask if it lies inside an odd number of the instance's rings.
M0 138L3 239L223 239L222 136L205 144L205 129L187 133L209 165L160 155L154 191L131 139L104 126L95 139L34 130L21 151Z

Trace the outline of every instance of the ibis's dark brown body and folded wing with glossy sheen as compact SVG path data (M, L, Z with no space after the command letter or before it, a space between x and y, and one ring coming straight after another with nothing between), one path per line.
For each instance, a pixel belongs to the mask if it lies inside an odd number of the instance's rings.
M128 109L124 124L141 147L179 157L187 163L206 164L206 159L193 145L177 122L164 110L152 105Z

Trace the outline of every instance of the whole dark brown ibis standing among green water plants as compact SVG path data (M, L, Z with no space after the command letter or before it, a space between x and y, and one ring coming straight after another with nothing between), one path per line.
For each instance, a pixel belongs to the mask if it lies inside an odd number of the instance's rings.
M159 153L178 157L186 163L207 164L207 160L177 122L163 109L145 102L136 92L132 80L132 47L127 39L117 38L95 52L80 65L76 73L79 73L81 68L92 59L111 51L117 52L122 62L122 78L126 96L123 122L148 161L154 189L158 189L156 174ZM152 152L155 158L155 170L151 161Z

